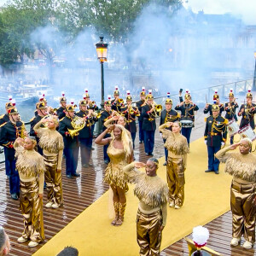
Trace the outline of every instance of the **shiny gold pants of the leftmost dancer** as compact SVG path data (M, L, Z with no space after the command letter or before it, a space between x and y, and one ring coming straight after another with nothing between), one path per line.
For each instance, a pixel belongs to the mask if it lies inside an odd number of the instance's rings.
M22 236L31 241L44 240L43 200L38 196L38 180L20 180L20 210L24 218Z

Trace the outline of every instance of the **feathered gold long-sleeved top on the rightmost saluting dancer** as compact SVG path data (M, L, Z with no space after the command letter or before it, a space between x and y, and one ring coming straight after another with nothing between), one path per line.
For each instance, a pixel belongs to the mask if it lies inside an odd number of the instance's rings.
M247 182L256 183L256 155L227 153L228 150L229 148L223 148L216 153L216 157L226 163L225 172Z

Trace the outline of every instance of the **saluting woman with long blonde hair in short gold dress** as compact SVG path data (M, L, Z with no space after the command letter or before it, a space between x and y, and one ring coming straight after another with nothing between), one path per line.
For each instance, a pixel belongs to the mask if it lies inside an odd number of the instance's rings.
M108 132L111 132L112 136L104 138ZM109 144L107 153L110 162L106 169L104 182L108 183L113 190L115 218L111 224L118 226L124 221L127 183L123 169L131 163L133 158L132 142L124 126L111 125L96 138L95 143L99 145Z

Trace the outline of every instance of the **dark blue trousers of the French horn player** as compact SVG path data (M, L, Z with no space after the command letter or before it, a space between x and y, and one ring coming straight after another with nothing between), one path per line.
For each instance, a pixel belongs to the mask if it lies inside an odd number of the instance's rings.
M66 175L76 173L79 161L79 147L64 148L66 156Z

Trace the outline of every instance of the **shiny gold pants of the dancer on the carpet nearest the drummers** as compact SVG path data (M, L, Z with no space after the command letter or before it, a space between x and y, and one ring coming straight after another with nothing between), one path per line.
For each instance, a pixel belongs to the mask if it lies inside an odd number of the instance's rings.
M169 187L169 202L182 207L184 201L184 165L183 158L168 157L166 178Z

